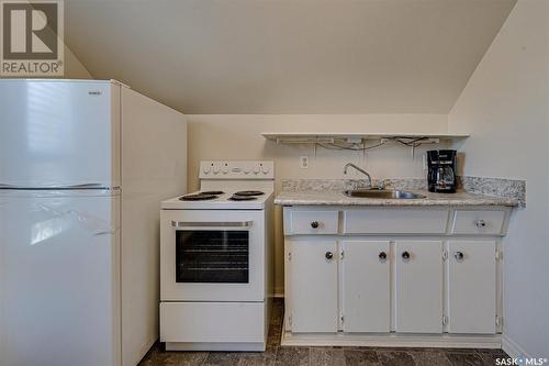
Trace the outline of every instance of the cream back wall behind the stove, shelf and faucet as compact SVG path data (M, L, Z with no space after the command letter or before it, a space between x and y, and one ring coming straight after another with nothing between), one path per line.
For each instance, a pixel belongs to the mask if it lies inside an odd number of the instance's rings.
M343 167L354 162L374 178L425 177L418 148L412 159L408 147L386 145L367 154L317 149L311 146L277 145L261 132L370 132L446 133L445 114L191 114L189 121L188 187L198 189L199 163L204 159L273 159L277 188L282 178L344 178ZM310 156L310 168L301 169L299 157ZM359 175L355 177L360 178ZM276 287L283 291L283 234L281 210L277 208Z

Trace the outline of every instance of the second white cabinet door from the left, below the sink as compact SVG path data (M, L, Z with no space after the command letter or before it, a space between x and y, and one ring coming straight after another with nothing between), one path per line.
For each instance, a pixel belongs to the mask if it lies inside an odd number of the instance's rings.
M389 332L389 241L346 241L341 244L344 331Z

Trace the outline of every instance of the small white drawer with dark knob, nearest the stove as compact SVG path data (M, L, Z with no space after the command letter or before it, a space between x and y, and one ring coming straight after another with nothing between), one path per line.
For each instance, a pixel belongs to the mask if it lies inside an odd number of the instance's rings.
M292 211L287 234L337 234L338 211Z

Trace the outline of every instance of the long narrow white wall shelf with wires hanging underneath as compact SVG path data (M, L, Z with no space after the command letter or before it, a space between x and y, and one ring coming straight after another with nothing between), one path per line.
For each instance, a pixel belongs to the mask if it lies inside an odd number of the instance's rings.
M412 148L412 158L415 156L415 148L425 144L439 144L445 141L458 141L469 137L469 134L445 134L445 133L300 133L300 132L280 132L261 133L268 141L277 144L305 144L314 148L327 149L347 149L366 152L371 148L380 147L386 143L394 143Z

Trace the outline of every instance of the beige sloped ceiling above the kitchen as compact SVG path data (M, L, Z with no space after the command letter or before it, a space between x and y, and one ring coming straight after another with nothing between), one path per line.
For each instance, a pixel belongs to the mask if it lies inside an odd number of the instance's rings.
M66 0L66 43L186 113L448 113L515 0Z

